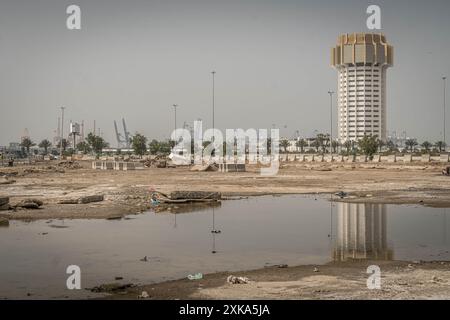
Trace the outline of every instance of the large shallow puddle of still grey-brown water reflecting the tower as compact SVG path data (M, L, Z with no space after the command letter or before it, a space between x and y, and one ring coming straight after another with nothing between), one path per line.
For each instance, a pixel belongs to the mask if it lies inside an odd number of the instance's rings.
M69 265L80 266L89 288L115 277L143 284L274 264L449 260L448 211L265 196L121 221L11 221L0 228L0 298L94 297L67 290Z

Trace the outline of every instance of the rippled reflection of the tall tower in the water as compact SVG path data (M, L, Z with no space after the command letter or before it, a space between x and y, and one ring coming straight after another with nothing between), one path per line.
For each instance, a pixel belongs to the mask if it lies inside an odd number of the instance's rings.
M385 204L337 202L334 261L392 260Z

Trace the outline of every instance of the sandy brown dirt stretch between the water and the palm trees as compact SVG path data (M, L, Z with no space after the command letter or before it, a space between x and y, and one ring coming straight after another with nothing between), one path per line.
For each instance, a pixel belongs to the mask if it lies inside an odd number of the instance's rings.
M39 210L0 211L9 219L108 218L150 208L150 188L219 191L224 196L264 194L335 193L345 191L351 202L421 203L450 206L450 178L441 175L444 165L424 164L283 164L273 177L261 176L259 167L247 172L194 172L188 167L148 168L137 171L102 171L58 167L53 162L0 168L0 176L14 180L0 184L0 196L11 205L36 198ZM331 170L331 171L330 171ZM4 179L4 177L2 177ZM102 194L105 200L89 204L58 204L60 200ZM336 197L337 199L337 197ZM339 200L339 199L337 199Z

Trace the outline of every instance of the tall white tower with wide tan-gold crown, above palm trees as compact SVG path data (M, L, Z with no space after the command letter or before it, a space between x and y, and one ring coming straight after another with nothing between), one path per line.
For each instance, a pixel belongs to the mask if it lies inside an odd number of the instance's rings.
M376 135L386 141L386 69L393 47L374 33L343 34L332 48L338 71L338 138L341 143Z

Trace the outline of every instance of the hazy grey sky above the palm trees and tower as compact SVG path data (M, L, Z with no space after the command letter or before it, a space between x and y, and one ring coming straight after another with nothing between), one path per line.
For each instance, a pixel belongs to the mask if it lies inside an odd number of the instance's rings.
M70 4L81 7L81 30L66 28ZM70 119L92 130L96 119L112 146L122 117L132 133L167 138L174 103L179 126L201 118L209 127L212 70L216 127L328 132L330 48L340 33L369 32L369 4L381 7L394 46L388 130L441 139L448 0L1 0L0 145L24 128L36 142L52 139L59 106L66 130Z

